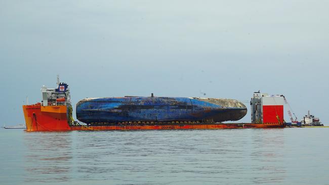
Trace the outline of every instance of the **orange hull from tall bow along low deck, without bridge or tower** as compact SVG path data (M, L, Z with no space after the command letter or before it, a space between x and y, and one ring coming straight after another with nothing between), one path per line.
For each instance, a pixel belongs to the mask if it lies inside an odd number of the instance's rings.
M282 123L212 123L212 124L162 124L162 125L110 125L70 126L66 106L23 105L26 131L64 130L160 130L160 129L233 129L233 128L280 128Z

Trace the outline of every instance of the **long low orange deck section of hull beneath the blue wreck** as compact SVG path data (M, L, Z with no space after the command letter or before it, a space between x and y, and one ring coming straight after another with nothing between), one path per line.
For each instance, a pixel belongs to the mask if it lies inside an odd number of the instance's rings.
M213 123L213 124L173 124L173 125L111 125L111 126L71 126L71 130L169 130L169 129L234 129L234 128L283 128L278 123Z

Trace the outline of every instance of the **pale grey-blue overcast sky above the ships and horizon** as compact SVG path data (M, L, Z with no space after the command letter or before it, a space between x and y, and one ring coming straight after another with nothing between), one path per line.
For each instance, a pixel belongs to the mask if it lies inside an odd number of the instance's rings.
M40 87L86 97L283 94L324 123L327 1L0 1L0 124ZM201 92L207 94L203 96ZM249 103L246 106L250 108ZM285 119L287 114L285 112ZM250 113L242 120L250 121Z

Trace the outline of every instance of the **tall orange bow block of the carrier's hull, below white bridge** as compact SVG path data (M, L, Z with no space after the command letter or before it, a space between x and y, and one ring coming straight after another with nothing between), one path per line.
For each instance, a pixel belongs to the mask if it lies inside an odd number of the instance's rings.
M26 131L70 130L66 106L23 105Z

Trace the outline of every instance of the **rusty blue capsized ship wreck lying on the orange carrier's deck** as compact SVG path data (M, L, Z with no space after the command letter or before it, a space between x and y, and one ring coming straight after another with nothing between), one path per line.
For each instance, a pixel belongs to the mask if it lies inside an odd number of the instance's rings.
M230 99L117 97L89 98L76 105L76 118L89 124L138 122L236 121L247 112L243 103Z

